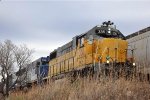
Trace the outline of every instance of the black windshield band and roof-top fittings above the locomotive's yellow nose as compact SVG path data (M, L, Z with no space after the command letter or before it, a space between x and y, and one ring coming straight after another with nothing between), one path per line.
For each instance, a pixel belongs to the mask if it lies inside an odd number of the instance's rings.
M125 38L124 35L119 30L117 30L115 26L113 26L113 23L110 21L103 22L102 26L96 28L95 33L98 36L105 38Z

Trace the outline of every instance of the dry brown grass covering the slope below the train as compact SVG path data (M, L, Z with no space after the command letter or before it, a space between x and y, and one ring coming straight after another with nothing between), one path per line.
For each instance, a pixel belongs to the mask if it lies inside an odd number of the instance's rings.
M150 100L150 84L146 82L100 79L68 79L35 87L27 93L13 93L9 100Z

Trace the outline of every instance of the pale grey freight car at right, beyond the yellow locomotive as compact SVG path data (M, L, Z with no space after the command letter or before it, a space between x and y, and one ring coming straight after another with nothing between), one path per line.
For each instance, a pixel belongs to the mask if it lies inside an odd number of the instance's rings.
M150 80L150 27L126 36L126 39L128 48L132 50L128 56L134 56L137 73L141 78L146 76Z

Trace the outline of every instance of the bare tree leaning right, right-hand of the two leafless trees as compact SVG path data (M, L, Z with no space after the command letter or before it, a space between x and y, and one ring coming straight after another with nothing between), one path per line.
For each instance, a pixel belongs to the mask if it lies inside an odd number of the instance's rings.
M15 47L14 58L15 58L16 67L19 69L18 70L19 75L16 81L13 83L13 85L15 85L18 81L21 84L22 81L26 80L27 72L28 72L27 65L31 61L31 55L33 52L34 51L28 49L26 45L20 45L19 47L17 46Z

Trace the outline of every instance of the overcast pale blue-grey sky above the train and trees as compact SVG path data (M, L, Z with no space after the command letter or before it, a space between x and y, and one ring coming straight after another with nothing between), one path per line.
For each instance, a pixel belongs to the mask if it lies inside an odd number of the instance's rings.
M35 49L33 60L113 21L128 35L150 26L150 0L0 0L0 41Z

